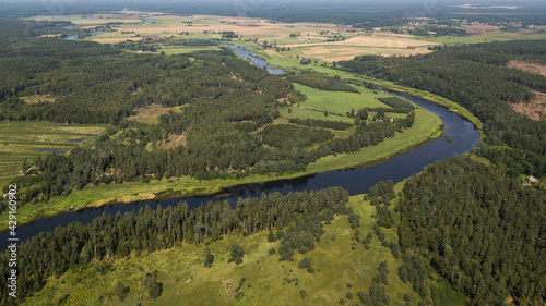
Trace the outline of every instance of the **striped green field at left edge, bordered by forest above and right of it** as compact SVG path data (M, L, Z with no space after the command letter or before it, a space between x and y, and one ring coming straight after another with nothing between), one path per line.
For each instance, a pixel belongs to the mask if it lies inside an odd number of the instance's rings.
M40 154L69 151L104 130L103 125L0 121L0 182L20 175L25 158L31 163Z

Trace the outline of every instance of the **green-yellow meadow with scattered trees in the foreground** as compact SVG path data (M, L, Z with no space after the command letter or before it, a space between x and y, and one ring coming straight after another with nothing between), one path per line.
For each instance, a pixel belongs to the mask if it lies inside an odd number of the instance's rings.
M397 184L395 192L400 192L402 186ZM347 206L360 215L360 236L372 232L375 219L370 216L376 212L376 208L363 201L361 195L351 197ZM391 210L394 206L391 205ZM404 304L403 295L406 293L412 297L412 305L417 304L420 298L413 292L412 283L403 283L397 276L402 259L395 259L377 237L372 240L371 248L366 250L361 243L352 240L355 230L351 229L347 216L336 217L323 229L325 233L316 243L317 248L306 255L296 254L294 261L278 261L278 254L268 255L268 250L271 247L276 249L280 242L268 243L266 232L248 237L227 236L209 245L214 255L212 268L203 267L202 245L183 244L153 254L131 254L128 258L114 260L114 271L105 276L93 272L91 268L52 279L25 305L60 305L60 302L79 305L96 305L100 302L116 305L340 305L341 298L352 305L358 302L358 291L368 293L371 279L378 273L377 267L382 261L387 261L390 270L389 285L384 286L390 305ZM387 241L397 242L396 227L382 229L382 232ZM330 238L332 234L336 235L335 241ZM239 266L227 264L229 247L235 241L246 252L244 262ZM352 249L353 243L356 243L355 250ZM311 259L316 273L298 269L298 262L304 257ZM163 294L156 301L150 298L142 286L145 273L154 270L158 271L158 281L163 283ZM241 278L247 280L240 289L244 296L237 301L235 290ZM292 281L288 283L286 279ZM123 302L119 302L114 294L119 281L130 286ZM352 287L347 287L348 282ZM431 285L462 299L459 294L446 289L444 284L431 282ZM300 296L301 290L307 293L305 298ZM348 292L354 295L353 301L347 299Z

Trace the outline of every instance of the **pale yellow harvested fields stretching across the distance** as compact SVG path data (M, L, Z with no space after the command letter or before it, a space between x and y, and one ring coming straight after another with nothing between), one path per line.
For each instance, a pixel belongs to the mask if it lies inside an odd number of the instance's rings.
M145 22L146 19L156 22ZM324 61L349 60L355 56L372 53L382 56L410 56L428 52L426 46L439 42L418 40L410 35L392 33L366 33L352 26L314 23L276 23L249 17L228 17L212 15L176 16L145 12L120 12L116 14L38 16L34 20L70 21L75 28L90 28L108 22L121 22L115 32L94 35L86 38L100 44L116 44L124 40L140 40L142 36L159 36L179 39L215 39L222 32L234 32L239 35L236 40L268 41L278 47L294 50L277 52L266 50L277 57L300 56ZM189 35L183 35L188 33ZM290 37L290 34L297 35ZM141 37L136 37L140 35ZM335 35L343 40L327 41ZM420 48L419 48L420 47ZM416 49L417 48L417 49ZM167 51L165 51L167 53ZM182 51L183 52L183 51ZM173 52L170 52L173 53Z

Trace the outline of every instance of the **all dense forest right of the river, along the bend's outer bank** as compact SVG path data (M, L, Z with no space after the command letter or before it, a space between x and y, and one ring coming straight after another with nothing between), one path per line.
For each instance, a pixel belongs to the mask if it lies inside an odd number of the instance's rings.
M449 98L484 122L486 137L468 157L437 162L410 179L397 207L405 259L424 258L472 305L517 305L546 297L546 193L522 187L521 175L544 178L546 122L515 113L546 91L546 77L506 68L544 61L545 41L444 47L408 58L357 57L344 70ZM408 257L410 256L410 257ZM411 257L414 256L414 257ZM404 272L405 273L405 272Z

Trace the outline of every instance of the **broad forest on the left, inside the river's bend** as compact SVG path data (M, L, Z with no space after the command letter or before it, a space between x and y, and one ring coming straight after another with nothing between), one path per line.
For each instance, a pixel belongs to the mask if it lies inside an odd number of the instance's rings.
M25 186L23 206L67 197L88 184L304 172L321 157L376 146L413 124L412 114L368 126L358 120L355 124L363 126L347 138L333 138L321 127L269 126L285 100L305 100L294 91L292 78L328 90L357 91L356 86L314 72L285 79L254 68L228 48L177 56L139 54L109 45L56 38L14 48L7 37L22 30L16 25L10 24L11 32L0 38L7 41L0 47L0 68L5 72L0 76L0 118L109 124L93 146L25 161L22 168L27 175L12 181ZM22 99L29 96L50 98L36 103ZM136 109L152 105L171 111L155 124L128 120ZM410 112L407 102L391 105L394 112L400 107ZM332 123L312 124L336 128ZM3 200L0 211L7 205Z

